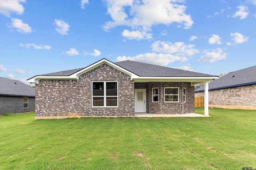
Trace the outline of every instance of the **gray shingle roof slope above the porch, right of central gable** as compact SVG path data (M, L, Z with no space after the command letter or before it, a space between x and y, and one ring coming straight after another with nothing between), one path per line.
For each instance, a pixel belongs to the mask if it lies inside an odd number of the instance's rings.
M136 61L120 61L116 62L118 66L137 74L138 76L146 77L212 77L210 74L202 74L198 72L180 70L176 68L158 66L154 64L140 63Z

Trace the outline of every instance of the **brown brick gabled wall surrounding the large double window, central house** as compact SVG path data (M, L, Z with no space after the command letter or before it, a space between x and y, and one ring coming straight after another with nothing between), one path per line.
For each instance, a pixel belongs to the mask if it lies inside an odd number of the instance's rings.
M93 81L118 82L118 107L92 107ZM83 116L134 116L134 80L102 64L79 80L39 80L36 84L36 119Z

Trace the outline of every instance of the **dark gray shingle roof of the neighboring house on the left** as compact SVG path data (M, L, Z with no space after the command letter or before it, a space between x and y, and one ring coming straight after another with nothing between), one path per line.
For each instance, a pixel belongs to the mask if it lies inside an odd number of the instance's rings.
M35 88L18 80L0 77L0 95L35 97Z

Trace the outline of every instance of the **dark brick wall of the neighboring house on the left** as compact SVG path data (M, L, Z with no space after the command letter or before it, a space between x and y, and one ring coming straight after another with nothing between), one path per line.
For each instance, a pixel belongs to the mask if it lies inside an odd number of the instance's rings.
M24 97L0 96L0 115L4 113L26 113L35 111L35 98L28 97L28 108L24 109Z

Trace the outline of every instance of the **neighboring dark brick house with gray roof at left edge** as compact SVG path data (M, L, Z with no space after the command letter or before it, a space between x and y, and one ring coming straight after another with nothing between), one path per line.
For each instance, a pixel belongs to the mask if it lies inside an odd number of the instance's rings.
M0 115L35 111L35 88L0 77Z

